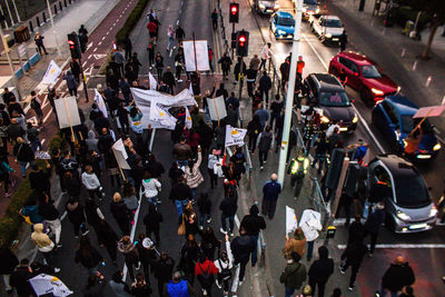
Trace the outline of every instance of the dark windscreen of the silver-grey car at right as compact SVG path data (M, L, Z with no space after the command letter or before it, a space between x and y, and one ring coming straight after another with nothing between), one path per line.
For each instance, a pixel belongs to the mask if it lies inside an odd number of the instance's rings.
M403 171L407 171L404 174ZM403 170L395 178L397 205L414 208L431 204L428 189L421 175Z

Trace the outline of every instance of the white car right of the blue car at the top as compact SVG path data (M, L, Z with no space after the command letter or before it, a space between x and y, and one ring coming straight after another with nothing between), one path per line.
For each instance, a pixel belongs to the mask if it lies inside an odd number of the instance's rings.
M323 43L339 42L344 28L337 16L320 16L318 19L313 18L312 20L310 30L318 36Z

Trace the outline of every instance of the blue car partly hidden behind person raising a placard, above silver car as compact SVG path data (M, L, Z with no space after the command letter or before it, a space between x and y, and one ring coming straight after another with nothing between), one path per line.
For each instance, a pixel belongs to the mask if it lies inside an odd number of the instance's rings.
M383 137L392 148L402 152L406 146L405 138L422 120L422 118L413 118L417 110L418 107L408 98L388 96L373 108L372 121L380 129ZM413 160L431 160L437 156L441 143L437 141L433 128L427 119L422 122L423 136L418 150L407 157Z

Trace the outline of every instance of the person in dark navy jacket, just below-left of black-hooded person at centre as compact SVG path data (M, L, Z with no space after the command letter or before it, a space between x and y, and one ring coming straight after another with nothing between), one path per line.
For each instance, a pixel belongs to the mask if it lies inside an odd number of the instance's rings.
M255 250L254 240L247 235L244 227L239 228L239 236L235 237L230 242L230 249L234 255L234 264L239 265L238 286L243 285L246 274L246 265L249 263L250 254ZM237 268L238 269L238 268Z

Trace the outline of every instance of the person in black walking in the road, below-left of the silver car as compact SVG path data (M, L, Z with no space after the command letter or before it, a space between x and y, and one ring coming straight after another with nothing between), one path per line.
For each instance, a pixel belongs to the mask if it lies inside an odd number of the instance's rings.
M362 240L358 239L356 241L349 242L342 255L340 274L346 274L346 269L349 266L352 267L348 290L354 290L355 288L355 280L357 278L357 274L360 269L362 261L366 251L366 246L363 244Z

